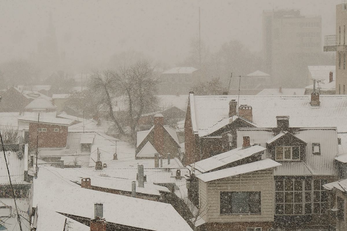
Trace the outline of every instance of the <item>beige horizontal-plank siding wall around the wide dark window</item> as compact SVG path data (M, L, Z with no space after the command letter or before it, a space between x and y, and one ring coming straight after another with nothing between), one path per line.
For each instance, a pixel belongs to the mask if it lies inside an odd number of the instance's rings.
M236 177L214 180L207 183L199 180L200 203L208 198L209 211L206 222L273 221L274 181L273 170L261 170ZM260 214L220 214L220 192L261 192Z

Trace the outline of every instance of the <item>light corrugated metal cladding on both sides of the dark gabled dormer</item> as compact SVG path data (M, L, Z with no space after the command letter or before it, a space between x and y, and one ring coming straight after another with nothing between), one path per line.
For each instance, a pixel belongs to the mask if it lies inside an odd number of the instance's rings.
M311 171L313 175L336 174L334 165L334 158L338 153L336 128L300 128L294 135L307 143L305 162L283 164L275 170L275 175L298 175L297 172L306 174L308 171ZM266 147L266 141L271 139L274 134L268 128L240 128L237 130L238 146L242 145L243 136L249 136L252 143L259 143L261 146ZM313 155L312 143L320 143L321 155ZM263 158L266 157L270 158L265 152ZM282 162L285 163L285 161Z

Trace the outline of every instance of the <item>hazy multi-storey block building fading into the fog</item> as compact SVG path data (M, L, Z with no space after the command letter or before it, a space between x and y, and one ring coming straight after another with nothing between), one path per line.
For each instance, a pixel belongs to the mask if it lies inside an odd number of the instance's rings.
M321 16L303 16L300 10L263 11L265 72L274 78L274 85L307 85L307 66L316 65L323 53L321 21Z

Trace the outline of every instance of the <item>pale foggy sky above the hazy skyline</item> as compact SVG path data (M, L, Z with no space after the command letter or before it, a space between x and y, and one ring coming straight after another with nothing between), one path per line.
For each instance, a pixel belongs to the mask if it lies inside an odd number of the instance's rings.
M262 48L262 10L300 9L322 16L322 39L335 34L336 5L341 0L230 1L0 1L0 62L30 58L45 36L49 14L58 46L76 69L108 62L128 50L142 51L169 65L183 61L198 36L211 51L239 39L252 51ZM323 49L323 48L322 48Z

